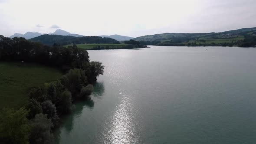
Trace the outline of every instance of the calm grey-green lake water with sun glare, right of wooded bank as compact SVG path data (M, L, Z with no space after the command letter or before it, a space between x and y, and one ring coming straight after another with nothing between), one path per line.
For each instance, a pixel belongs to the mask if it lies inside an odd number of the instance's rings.
M206 50L208 49L208 50ZM105 73L59 144L255 144L256 49L89 51Z

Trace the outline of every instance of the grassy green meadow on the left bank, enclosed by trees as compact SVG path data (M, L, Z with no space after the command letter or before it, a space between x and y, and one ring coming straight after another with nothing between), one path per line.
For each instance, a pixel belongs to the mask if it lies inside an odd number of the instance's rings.
M35 63L0 62L0 109L26 105L32 87L62 76L62 72Z

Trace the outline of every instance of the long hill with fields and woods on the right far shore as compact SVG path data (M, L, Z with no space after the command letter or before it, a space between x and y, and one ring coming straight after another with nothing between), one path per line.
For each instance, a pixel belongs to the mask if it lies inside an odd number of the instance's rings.
M256 27L220 33L162 33L140 36L134 40L158 46L242 46L256 45Z

